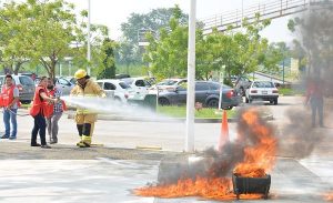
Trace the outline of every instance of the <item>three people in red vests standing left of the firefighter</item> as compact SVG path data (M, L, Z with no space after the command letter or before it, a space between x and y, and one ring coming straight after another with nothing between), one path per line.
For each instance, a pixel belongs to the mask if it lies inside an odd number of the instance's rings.
M34 125L31 133L31 146L50 148L46 141L46 129L50 135L50 144L58 142L58 121L65 110L64 102L58 102L61 92L54 87L54 81L42 77L36 89L33 104L30 114ZM4 77L1 89L0 105L3 108L4 134L1 139L16 140L18 132L17 112L21 105L20 92L12 75ZM41 108L43 106L43 108ZM37 143L37 134L40 133L41 144Z

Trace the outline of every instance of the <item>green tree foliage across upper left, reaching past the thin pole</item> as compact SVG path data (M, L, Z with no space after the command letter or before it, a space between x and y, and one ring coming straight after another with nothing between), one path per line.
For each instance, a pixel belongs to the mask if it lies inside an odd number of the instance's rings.
M0 9L1 63L11 65L14 72L28 61L29 65L41 64L51 78L64 58L72 58L80 68L90 65L94 72L114 63L103 44L108 28L100 24L91 24L92 60L87 61L87 16L81 11L82 19L78 19L73 4L64 0L4 3Z

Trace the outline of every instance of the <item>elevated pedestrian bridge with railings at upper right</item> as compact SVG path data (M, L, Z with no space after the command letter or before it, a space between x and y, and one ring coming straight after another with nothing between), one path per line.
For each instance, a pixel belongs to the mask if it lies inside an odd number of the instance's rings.
M229 27L233 29L240 28L242 20L245 18L250 23L254 22L256 13L260 14L260 20L266 20L295 14L319 7L333 8L333 0L273 0L214 14L200 21L203 22L203 33L209 34L213 28L216 28L219 31L225 31Z

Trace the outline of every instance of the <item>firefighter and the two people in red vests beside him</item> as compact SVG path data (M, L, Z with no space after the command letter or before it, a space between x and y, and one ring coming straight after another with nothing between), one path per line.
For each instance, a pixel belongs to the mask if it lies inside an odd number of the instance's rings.
M104 91L93 81L82 69L74 74L77 85L71 90L72 97L102 97L105 98ZM54 82L46 77L42 77L38 84L33 103L30 109L34 123L31 132L31 146L41 146L50 149L46 140L46 129L50 135L50 143L58 143L58 121L62 112L67 109L65 103L60 100L61 92L54 88ZM77 108L75 123L80 141L77 143L79 148L90 148L91 138L97 121L97 113L82 106ZM37 142L37 135L40 135L41 143Z

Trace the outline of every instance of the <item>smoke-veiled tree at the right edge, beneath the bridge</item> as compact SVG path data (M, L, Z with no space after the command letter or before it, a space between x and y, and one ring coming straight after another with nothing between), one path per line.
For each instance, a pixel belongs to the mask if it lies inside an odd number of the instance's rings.
M289 21L289 29L294 32L294 54L300 61L307 62L307 74L323 75L331 79L333 75L333 9L317 7L305 12L301 18Z

